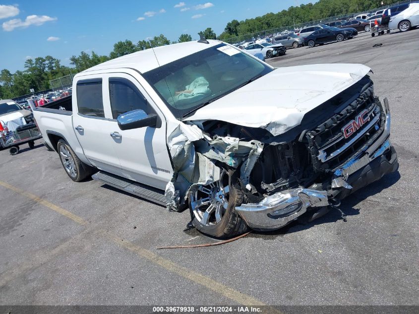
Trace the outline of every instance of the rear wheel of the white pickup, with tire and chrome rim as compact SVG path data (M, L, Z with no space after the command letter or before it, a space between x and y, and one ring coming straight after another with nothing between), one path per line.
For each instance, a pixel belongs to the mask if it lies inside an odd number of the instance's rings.
M80 182L93 173L93 168L83 163L66 141L60 139L57 144L62 167L74 182Z

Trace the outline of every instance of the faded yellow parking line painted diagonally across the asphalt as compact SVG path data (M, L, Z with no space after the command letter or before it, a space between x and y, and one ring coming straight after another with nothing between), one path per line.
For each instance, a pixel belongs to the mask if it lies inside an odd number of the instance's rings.
M4 188L8 188L20 195L26 196L30 199L32 199L33 201L40 203L56 212L58 212L59 214L73 220L74 222L80 224L80 225L86 225L87 222L81 218L78 217L72 213L70 213L69 211L54 205L53 203L50 203L47 200L44 200L34 194L28 193L20 188L16 188L13 187L5 182L0 181L0 186L4 187ZM230 299L232 301L235 301L241 305L246 305L246 306L264 306L265 304L263 304L262 302L260 302L259 300L248 296L244 293L240 293L239 291L232 289L210 277L204 276L198 272L195 272L193 270L190 270L188 268L182 267L166 258L163 258L159 255L157 255L156 253L149 251L147 249L141 248L135 244L133 244L132 242L129 241L122 241L122 239L116 237L116 236L111 236L108 235L108 237L110 237L115 243L117 243L119 246L128 249L129 251L134 252L135 254L137 254L138 256L147 259L148 261L152 262L153 264L156 264L172 273L178 274L181 277L188 279L194 283L197 283L201 286L206 287L207 289L217 292L219 294L221 294L222 296L226 297L227 299ZM278 312L276 309L270 309L269 313L280 313Z

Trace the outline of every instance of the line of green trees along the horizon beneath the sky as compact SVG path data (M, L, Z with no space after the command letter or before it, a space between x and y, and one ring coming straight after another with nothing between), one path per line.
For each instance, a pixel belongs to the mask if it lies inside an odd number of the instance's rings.
M386 4L397 0L386 0ZM215 32L206 28L198 33L206 39L228 40L239 35L259 32L266 29L318 20L329 16L349 14L353 12L367 11L381 5L381 0L319 0L312 4L291 6L287 10L278 13L267 13L263 16L238 21L228 22L224 31L217 37ZM133 43L130 40L119 41L114 45L113 51L108 55L100 56L95 52L88 54L81 52L78 56L70 58L73 67L62 65L59 59L52 56L28 59L24 63L25 70L11 73L7 69L0 72L0 99L14 98L29 93L29 89L42 91L50 88L50 80L68 74L76 74L96 64L118 58L151 47L164 46L174 43L191 41L192 36L181 34L178 41L171 42L166 36L160 34L149 40L140 40Z

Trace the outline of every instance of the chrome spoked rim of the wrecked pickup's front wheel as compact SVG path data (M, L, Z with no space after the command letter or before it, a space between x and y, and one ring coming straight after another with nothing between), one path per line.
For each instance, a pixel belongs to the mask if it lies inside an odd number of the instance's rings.
M220 223L229 205L229 191L228 175L223 170L219 181L191 192L190 206L196 220L204 226Z

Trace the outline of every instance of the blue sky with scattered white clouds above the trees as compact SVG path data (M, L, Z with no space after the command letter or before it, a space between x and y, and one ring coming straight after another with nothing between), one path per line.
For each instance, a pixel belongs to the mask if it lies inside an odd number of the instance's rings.
M9 0L10 1L10 0ZM113 45L164 34L170 40L314 0L0 0L0 69L23 70L26 58L69 57L92 50L108 55Z

